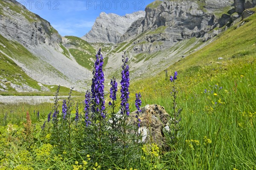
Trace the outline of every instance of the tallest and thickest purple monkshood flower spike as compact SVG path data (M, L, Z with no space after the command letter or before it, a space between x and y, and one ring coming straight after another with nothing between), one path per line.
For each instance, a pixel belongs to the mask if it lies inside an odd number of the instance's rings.
M100 112L102 118L105 118L105 114L103 110L105 109L105 100L104 100L104 73L103 73L103 56L101 54L101 49L99 49L98 53L96 54L96 61L94 63L94 70L93 70L93 79L92 79L92 100L93 112Z

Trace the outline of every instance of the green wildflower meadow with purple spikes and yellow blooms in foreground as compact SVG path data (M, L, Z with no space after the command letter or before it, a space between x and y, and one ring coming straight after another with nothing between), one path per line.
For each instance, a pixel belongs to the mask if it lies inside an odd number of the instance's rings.
M106 82L99 49L82 100L73 88L61 99L58 86L49 110L1 114L0 170L256 170L255 58L134 83L128 54L120 60L120 77ZM143 141L146 104L169 114L163 145Z

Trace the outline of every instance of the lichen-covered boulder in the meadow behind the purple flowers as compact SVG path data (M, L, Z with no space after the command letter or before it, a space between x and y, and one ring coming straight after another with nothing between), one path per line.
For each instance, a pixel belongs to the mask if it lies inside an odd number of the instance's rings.
M139 132L143 135L143 142L156 143L159 146L164 144L163 128L170 118L164 107L157 104L146 105L141 108L142 112L138 115L141 122ZM138 125L136 111L131 112L130 123Z

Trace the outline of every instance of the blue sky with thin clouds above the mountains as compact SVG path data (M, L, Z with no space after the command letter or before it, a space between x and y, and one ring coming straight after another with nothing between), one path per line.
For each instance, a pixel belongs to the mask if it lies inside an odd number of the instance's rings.
M82 37L101 12L125 15L140 11L154 0L17 0L40 15L60 33Z

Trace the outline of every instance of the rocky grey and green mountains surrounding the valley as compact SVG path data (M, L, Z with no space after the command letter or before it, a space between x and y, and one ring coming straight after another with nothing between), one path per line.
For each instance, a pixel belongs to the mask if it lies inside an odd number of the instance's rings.
M83 37L62 37L15 0L0 5L0 91L7 93L51 91L58 84L84 91L100 47L106 82L119 79L123 50L132 80L156 75L215 37L224 41L223 32L255 13L256 0L157 0L145 12L102 12Z

